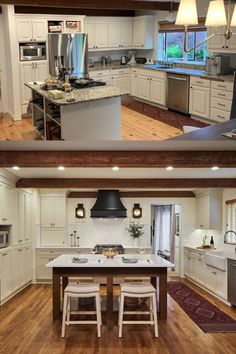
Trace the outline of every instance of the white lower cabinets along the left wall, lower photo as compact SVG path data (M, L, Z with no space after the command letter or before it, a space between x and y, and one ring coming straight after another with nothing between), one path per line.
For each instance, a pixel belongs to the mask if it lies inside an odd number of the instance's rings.
M1 303L33 279L31 245L0 253Z

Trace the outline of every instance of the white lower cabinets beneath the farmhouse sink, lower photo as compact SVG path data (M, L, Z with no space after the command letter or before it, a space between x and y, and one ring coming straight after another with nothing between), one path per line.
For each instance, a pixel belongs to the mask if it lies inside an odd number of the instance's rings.
M208 266L204 254L185 251L184 274L216 295L227 299L227 272Z

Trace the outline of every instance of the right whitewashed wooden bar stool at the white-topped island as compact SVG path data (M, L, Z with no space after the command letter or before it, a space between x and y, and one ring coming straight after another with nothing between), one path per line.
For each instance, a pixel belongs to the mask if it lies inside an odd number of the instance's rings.
M120 284L120 305L119 305L119 334L122 337L123 324L151 324L154 326L155 337L158 337L158 324L157 324L157 306L156 306L156 289L150 283L136 282L136 283L122 283ZM149 298L149 311L124 311L125 296L136 298ZM150 315L150 320L145 321L126 321L123 319L124 315Z

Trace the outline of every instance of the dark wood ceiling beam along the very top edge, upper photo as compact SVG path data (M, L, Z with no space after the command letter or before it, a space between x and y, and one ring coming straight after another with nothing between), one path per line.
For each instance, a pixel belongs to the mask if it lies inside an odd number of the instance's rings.
M116 9L116 10L161 10L169 11L171 2L166 1L132 1L132 0L1 0L1 4L20 6L43 6L80 9ZM173 3L173 9L177 10L179 4Z

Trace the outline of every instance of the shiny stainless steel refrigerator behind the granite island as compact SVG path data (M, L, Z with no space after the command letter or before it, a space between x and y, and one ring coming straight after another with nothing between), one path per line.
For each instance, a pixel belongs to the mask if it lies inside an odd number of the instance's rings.
M49 72L58 76L61 70L84 78L88 75L88 35L85 33L48 35Z

